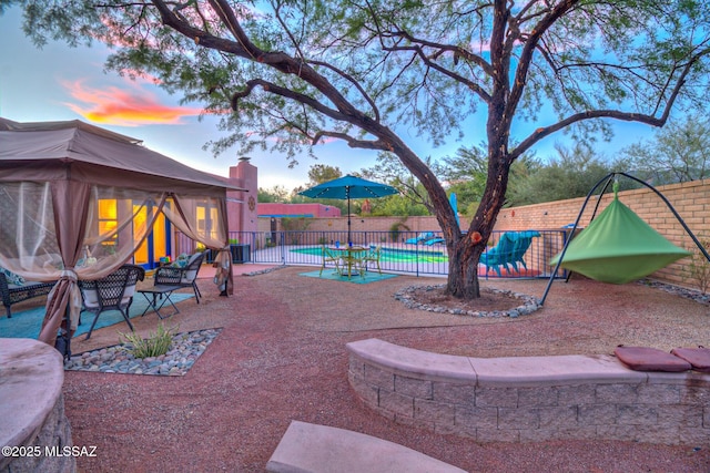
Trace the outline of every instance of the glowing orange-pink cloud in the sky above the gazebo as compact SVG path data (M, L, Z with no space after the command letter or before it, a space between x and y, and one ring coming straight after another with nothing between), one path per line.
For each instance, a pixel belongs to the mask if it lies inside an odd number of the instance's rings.
M139 126L145 124L181 124L185 116L195 116L202 109L164 105L152 93L134 86L123 90L116 86L93 89L83 81L64 83L73 99L81 102L67 103L73 112L84 119L106 125Z

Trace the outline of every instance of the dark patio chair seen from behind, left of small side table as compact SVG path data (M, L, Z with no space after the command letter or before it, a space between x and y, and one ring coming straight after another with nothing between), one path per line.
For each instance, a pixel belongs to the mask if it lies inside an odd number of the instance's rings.
M145 278L145 269L135 265L123 265L109 276L92 281L79 281L84 310L95 313L87 340L97 326L99 316L106 310L118 310L133 331L129 309L133 302L135 285Z

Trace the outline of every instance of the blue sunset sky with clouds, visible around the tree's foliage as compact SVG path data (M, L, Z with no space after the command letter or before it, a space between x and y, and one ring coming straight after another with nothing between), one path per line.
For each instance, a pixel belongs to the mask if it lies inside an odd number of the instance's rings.
M148 80L133 81L114 72L104 72L109 50L94 43L91 48L69 48L50 42L36 48L21 30L22 12L14 7L0 16L0 116L16 122L81 120L138 140L152 151L164 154L191 167L221 176L229 175L237 164L236 148L213 156L203 145L226 136L217 130L217 119L199 120L200 105L180 105L180 95L170 95ZM466 136L469 144L479 144L484 136L481 119L474 119L478 136ZM534 130L546 123L527 124ZM473 126L474 134L476 126ZM601 143L598 151L612 155L621 147L651 135L647 125L619 122L616 137ZM515 132L515 130L514 130ZM527 134L525 130L520 131ZM420 157L455 154L462 146L452 140L433 148L412 130L399 131L403 140ZM555 144L571 146L567 137L557 133L536 146L537 156L556 155ZM258 168L258 186L276 185L287 191L307 184L313 164L338 167L343 174L372 167L376 152L352 150L343 142L317 145L318 161L303 154L300 164L290 168L283 155L254 152L252 164Z

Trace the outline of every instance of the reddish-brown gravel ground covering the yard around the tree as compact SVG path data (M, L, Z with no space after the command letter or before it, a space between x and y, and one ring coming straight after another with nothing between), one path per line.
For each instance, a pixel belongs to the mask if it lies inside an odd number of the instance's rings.
M64 399L82 472L262 472L291 420L386 439L470 472L708 472L704 445L556 441L478 444L395 424L363 407L347 382L345 343L393 343L473 357L611 353L617 345L710 346L710 309L658 288L555 282L545 307L517 318L409 309L394 295L442 279L400 276L369 285L298 277L303 268L239 277L217 297L180 302L181 331L223 328L184 377L65 372ZM484 281L540 297L546 280ZM136 320L148 335L150 315ZM118 342L115 326L74 352Z

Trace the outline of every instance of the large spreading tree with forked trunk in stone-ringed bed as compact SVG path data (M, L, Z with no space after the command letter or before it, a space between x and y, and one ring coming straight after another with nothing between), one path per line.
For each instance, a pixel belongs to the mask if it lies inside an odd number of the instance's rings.
M150 73L222 114L240 144L285 152L322 140L396 155L428 193L449 254L447 290L479 295L477 265L513 162L566 128L662 126L707 99L706 0L0 0L26 32L115 47L108 66ZM138 72L136 72L138 71ZM485 128L467 126L474 113ZM545 113L542 113L545 112ZM530 121L530 134L511 135ZM407 145L487 146L478 212L458 228L442 183ZM513 145L515 143L516 145Z

